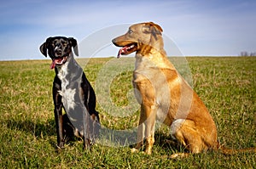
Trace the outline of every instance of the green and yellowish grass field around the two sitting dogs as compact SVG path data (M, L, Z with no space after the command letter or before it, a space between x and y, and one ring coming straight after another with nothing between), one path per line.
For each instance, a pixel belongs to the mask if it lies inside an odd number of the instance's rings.
M89 62L84 71L93 87L110 59L85 60ZM187 60L193 87L216 122L220 143L232 149L256 147L256 57ZM253 153L222 155L213 151L172 160L169 156L183 148L167 144L168 127L160 125L153 154L131 154L127 135L121 133L116 139L113 134L118 133L107 129L118 132L136 127L139 112L109 115L102 104L96 107L101 113L102 134L90 152L82 151L82 142L77 140L57 153L51 95L55 72L49 65L49 60L0 62L0 168L256 168ZM126 96L131 92L131 73L119 72L106 89L117 110L127 110L127 98L132 97ZM97 92L96 96L102 99Z

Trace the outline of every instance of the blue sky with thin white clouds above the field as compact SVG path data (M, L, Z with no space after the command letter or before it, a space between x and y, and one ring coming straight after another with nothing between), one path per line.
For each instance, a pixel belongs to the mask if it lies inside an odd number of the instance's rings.
M109 26L144 21L161 25L183 55L256 52L255 8L254 0L3 1L0 60L44 59L38 47L47 37L62 35L81 42ZM95 37L92 46L101 41ZM111 38L106 56L118 52L110 44Z

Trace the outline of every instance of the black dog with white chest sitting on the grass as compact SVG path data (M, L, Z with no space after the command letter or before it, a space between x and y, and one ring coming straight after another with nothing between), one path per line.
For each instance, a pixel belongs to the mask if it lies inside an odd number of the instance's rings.
M73 50L72 50L73 48ZM100 121L96 108L96 94L86 79L83 69L73 58L79 55L77 41L73 37L49 37L40 51L52 59L55 68L53 100L57 146L63 148L66 138L72 135L83 138L84 149L90 148L98 136ZM62 108L66 111L62 115Z

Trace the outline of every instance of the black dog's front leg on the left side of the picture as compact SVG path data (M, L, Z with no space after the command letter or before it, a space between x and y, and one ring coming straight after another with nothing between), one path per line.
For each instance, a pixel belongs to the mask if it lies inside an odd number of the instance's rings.
M55 124L56 124L56 132L57 132L57 146L58 148L64 148L64 137L63 137L63 115L62 115L62 107L63 104L61 102L61 85L54 82L53 85L53 100L55 104Z

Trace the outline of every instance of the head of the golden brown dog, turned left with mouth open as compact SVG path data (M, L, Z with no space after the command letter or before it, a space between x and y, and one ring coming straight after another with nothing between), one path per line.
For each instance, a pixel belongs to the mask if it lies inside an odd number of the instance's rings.
M119 50L118 58L122 54L138 52L148 46L158 49L162 46L162 31L160 25L156 25L153 22L131 25L125 35L112 40L115 46L122 47Z

